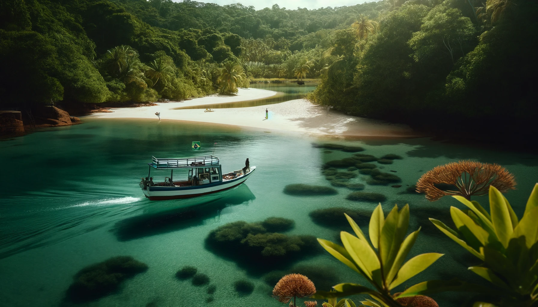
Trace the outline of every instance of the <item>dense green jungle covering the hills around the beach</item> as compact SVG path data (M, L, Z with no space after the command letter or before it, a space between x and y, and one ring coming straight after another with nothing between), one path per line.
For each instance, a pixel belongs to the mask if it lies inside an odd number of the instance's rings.
M232 94L254 78L319 78L315 104L526 146L538 113L537 12L531 0L316 10L5 0L0 106L155 102Z

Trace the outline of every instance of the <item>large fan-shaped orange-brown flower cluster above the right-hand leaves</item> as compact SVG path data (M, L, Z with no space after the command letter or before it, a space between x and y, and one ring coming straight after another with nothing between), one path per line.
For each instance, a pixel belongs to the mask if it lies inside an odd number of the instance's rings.
M457 190L442 190L436 184L455 185ZM498 164L466 160L429 170L416 183L416 191L426 194L426 198L433 202L447 195L461 195L467 199L471 199L472 195L485 195L490 185L506 192L514 189L515 184L514 175Z

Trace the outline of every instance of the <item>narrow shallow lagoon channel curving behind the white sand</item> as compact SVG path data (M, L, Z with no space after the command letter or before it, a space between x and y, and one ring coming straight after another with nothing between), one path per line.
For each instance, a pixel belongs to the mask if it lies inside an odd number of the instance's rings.
M210 109L246 108L248 106L275 104L275 103L290 101L293 99L305 98L305 95L308 92L311 92L314 89L316 89L316 86L317 86L316 82L305 82L305 85L298 85L292 82L254 83L254 84L250 84L251 88L277 91L277 94L268 98L251 99L251 100L231 102L231 103L182 106L181 108L175 108L175 109L181 110L181 109L206 109L206 108L210 108Z

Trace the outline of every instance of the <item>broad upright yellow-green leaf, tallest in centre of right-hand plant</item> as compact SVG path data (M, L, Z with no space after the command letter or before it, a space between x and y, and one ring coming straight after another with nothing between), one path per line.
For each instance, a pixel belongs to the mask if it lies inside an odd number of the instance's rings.
M512 219L510 218L505 198L493 185L490 185L490 211L493 230L502 245L507 248L514 232L514 227L512 226Z

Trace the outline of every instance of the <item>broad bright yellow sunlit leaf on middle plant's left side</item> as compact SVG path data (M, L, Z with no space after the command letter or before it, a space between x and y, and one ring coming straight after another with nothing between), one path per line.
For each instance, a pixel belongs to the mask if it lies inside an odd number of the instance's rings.
M381 285L381 263L377 258L376 252L373 248L364 240L360 240L354 235L342 231L340 238L346 251L351 255L351 258L357 263L357 265L368 274L370 280L377 285Z

